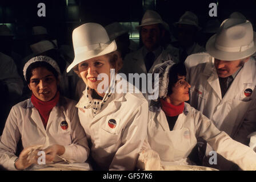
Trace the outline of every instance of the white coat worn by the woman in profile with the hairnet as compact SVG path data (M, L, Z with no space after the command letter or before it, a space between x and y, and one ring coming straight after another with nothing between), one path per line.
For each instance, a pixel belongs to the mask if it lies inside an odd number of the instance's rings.
M149 144L152 150L157 151L163 166L190 164L186 158L196 145L197 138L202 137L214 151L237 163L243 170L256 169L256 153L250 147L231 139L224 131L219 131L210 119L187 103L172 131L163 110L150 109L147 135L144 147Z

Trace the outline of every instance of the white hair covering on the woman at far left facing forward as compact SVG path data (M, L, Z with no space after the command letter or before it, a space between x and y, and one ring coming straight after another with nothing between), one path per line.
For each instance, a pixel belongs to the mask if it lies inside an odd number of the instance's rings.
M44 62L50 64L58 72L59 76L61 75L61 71L59 69L58 64L56 63L56 61L51 59L51 57L48 57L48 56L35 56L35 57L31 58L29 61L27 61L27 63L25 64L25 66L23 68L23 75L24 75L25 80L26 80L27 68L29 68L29 65L32 64L32 63L38 62L38 61L44 61Z

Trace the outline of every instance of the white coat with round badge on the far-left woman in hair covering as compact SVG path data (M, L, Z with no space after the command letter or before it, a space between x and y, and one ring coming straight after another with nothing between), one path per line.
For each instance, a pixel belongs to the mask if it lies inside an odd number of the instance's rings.
M67 123L67 129L61 127L63 121ZM35 109L30 99L13 106L0 140L0 164L8 170L15 170L14 161L17 159L15 152L19 139L22 140L23 148L38 144L42 144L45 148L51 144L60 144L65 147L65 153L61 158L54 159L55 165L58 166L61 163L62 167L66 164L66 167L77 165L81 169L89 169L89 165L84 162L90 150L85 131L79 123L74 101L59 97L58 104L51 110L46 129L38 110ZM63 159L68 163L65 163ZM37 164L28 169L46 166Z

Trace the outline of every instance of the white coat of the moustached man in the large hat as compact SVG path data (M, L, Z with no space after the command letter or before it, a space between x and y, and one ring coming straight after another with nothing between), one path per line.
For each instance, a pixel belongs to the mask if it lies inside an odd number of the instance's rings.
M197 53L187 57L185 65L191 85L190 105L202 111L219 130L248 144L247 136L256 131L255 60L245 63L223 98L213 57ZM245 96L246 89L253 90L251 96Z

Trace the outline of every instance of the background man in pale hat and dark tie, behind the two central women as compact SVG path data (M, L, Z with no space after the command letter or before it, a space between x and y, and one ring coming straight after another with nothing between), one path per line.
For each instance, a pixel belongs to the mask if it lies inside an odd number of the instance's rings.
M153 11L147 10L143 15L139 30L143 47L138 51L131 52L125 57L123 73L151 73L155 65L163 61L173 59L170 51L165 51L161 41L165 35L168 24L161 16Z

